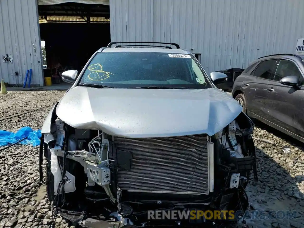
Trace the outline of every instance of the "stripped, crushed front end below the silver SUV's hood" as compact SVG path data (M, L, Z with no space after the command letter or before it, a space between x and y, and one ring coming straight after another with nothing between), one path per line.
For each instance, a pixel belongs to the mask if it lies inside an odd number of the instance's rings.
M51 116L40 148L41 161L43 153L47 159L47 194L71 222L84 227L214 226L236 223L241 213L230 221L223 215L156 219L154 212L248 208L245 188L250 178L257 181L257 171L254 124L243 112L212 136L154 138L75 129L55 112Z

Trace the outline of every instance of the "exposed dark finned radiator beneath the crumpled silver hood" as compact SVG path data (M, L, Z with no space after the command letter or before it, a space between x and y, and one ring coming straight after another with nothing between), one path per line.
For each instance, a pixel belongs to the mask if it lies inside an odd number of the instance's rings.
M209 194L208 137L114 137L119 150L133 154L131 171L118 170L118 187L132 192Z

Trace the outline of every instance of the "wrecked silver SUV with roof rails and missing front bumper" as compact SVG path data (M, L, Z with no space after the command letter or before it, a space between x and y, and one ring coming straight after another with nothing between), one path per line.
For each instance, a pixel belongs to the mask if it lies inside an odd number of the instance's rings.
M225 74L209 77L175 43L136 43L112 42L79 75L62 73L73 85L47 115L40 145L49 200L83 227L237 223L257 181L253 122L216 88ZM159 210L166 216L150 216Z

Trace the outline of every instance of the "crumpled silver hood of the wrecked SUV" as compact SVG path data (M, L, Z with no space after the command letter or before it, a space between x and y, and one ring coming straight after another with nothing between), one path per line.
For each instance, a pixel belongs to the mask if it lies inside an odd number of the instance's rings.
M123 137L214 135L242 107L219 89L113 89L76 86L61 98L57 116L78 129Z

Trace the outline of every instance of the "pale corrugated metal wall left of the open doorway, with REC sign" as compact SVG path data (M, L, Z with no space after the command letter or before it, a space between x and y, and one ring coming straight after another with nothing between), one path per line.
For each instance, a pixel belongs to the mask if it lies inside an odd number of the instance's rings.
M31 84L44 85L37 12L36 0L0 0L0 79L4 82L23 85L31 68ZM3 55L12 56L13 62L3 63Z

